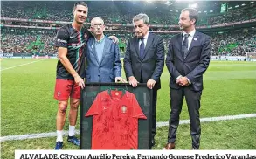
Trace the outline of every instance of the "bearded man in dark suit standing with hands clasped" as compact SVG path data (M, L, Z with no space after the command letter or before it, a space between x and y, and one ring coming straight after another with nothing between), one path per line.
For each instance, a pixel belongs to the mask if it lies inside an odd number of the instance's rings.
M170 121L168 143L164 149L174 149L179 115L185 96L190 115L192 149L199 149L199 108L203 90L203 74L210 63L210 37L196 31L198 13L194 9L182 10L179 26L183 31L170 39L166 66L170 73Z

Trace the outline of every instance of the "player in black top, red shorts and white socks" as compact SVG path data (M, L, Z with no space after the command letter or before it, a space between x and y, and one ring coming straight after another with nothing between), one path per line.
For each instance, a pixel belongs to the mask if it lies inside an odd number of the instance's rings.
M57 140L55 149L63 147L63 127L66 120L66 108L70 98L68 142L79 146L80 141L74 136L80 104L80 88L85 87L84 47L86 40L92 37L83 24L88 13L87 4L78 2L73 7L73 23L61 27L57 33L55 46L58 47L57 78L54 98L59 100L56 119Z

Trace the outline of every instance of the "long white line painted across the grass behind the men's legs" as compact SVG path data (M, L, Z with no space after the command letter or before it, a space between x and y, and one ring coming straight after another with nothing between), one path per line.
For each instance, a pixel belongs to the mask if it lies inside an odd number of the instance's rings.
M231 116L219 116L219 117L211 117L211 118L201 118L201 122L211 122L211 121L230 121L236 119L244 119L244 118L255 118L256 114L239 114L239 115L231 115ZM182 120L179 122L180 125L189 124L190 120ZM168 126L169 122L157 122L156 127ZM80 134L79 130L75 131L75 134ZM68 131L64 131L64 135L68 135ZM36 139L43 137L55 137L56 132L50 133L40 133L40 134L28 134L28 135L8 135L0 137L0 142L5 141L15 141L15 140L25 140L25 139Z

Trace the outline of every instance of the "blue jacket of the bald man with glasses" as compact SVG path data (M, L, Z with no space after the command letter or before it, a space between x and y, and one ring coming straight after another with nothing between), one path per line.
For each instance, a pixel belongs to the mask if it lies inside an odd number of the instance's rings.
M102 59L99 61L95 50L95 38L89 38L86 44L86 82L114 82L121 77L119 47L105 37Z

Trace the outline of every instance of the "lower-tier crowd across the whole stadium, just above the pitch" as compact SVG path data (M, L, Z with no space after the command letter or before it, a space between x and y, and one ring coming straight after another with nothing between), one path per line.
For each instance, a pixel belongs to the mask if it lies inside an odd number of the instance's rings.
M106 32L115 35L120 40L121 52L125 52L128 38L134 33ZM54 45L56 31L38 31L31 29L3 29L1 34L1 48L6 53L55 54ZM159 34L164 41L166 50L168 41L175 34ZM215 33L211 36L211 55L246 56L246 52L256 52L255 31L236 31Z

